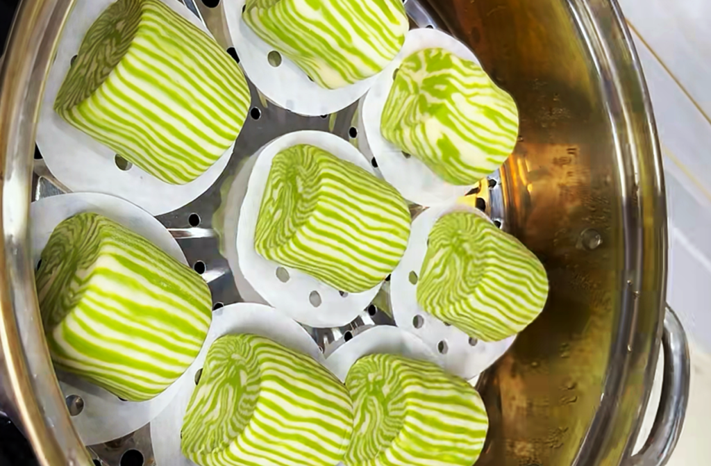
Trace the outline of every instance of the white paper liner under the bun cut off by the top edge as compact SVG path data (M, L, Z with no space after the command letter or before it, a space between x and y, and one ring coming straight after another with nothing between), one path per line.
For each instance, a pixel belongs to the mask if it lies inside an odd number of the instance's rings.
M281 63L272 66L269 53L274 47L262 41L242 21L245 0L223 2L228 29L240 65L257 89L279 107L299 115L329 115L351 105L368 92L378 75L338 89L326 89L314 83L296 63L279 53Z

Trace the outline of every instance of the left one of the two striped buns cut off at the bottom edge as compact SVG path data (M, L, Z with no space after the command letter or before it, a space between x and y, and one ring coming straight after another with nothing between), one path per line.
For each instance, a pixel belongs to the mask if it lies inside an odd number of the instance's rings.
M333 466L352 430L348 391L321 364L264 337L227 335L210 346L181 445L201 466Z

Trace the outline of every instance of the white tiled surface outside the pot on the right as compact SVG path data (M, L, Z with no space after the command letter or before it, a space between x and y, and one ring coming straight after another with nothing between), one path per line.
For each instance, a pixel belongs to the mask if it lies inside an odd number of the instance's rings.
M670 466L703 466L711 418L711 0L619 0L652 97L669 209L668 302L692 341L688 415ZM643 433L653 419L658 386Z

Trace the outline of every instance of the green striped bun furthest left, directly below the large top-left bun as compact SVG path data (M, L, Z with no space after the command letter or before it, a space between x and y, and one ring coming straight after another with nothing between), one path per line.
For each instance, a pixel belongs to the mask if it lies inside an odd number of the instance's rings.
M50 354L128 401L145 401L198 356L210 327L205 281L95 213L60 223L42 251L37 295Z

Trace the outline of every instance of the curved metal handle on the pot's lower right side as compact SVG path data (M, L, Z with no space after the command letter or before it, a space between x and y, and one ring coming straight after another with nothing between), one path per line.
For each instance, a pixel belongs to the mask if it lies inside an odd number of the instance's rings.
M667 305L662 335L664 369L661 401L642 449L625 466L664 466L676 447L689 401L689 344L684 328Z

